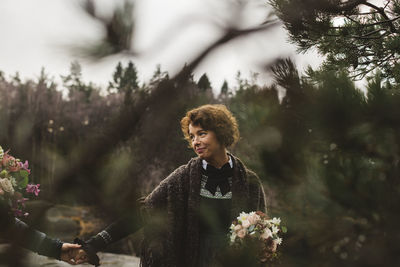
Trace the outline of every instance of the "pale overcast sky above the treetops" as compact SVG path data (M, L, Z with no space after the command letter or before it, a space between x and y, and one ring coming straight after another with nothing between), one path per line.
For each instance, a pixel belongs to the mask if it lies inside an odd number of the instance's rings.
M97 12L110 14L117 0L95 0ZM134 48L139 57L117 55L91 63L72 53L71 46L85 45L102 37L101 25L80 8L81 0L1 0L0 1L0 70L7 75L20 73L23 79L35 79L42 67L59 80L69 72L70 63L78 60L85 80L106 85L118 61L132 60L140 80L148 80L156 65L170 74L182 68L196 53L221 34L216 25L257 25L270 9L265 1L242 1L249 4L233 8L238 0L141 0L135 2ZM163 36L173 36L166 40ZM150 47L156 51L145 53ZM245 77L261 72L260 67L278 56L294 57L298 67L317 66L316 53L296 55L283 28L235 40L212 53L195 71L195 78L208 74L216 91L224 79L235 82L238 70ZM265 77L261 77L264 82Z

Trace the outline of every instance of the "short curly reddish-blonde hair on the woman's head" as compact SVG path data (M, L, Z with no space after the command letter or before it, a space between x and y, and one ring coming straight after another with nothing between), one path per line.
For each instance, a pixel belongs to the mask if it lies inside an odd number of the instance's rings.
M181 129L189 146L192 140L189 136L189 125L201 126L204 130L215 133L217 140L225 147L231 147L239 141L239 127L236 118L225 105L203 105L189 110L181 120Z

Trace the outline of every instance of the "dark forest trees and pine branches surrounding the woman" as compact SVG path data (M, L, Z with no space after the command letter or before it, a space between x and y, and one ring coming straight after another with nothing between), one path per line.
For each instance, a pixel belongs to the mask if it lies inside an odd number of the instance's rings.
M91 3L86 11L96 16ZM269 214L289 229L278 265L394 266L400 261L400 3L271 4L277 18L226 27L173 76L157 67L149 81L139 81L134 60L118 64L106 94L83 81L77 62L62 84L45 71L26 81L1 73L0 144L30 161L46 207L88 205L108 221L194 156L180 132L185 112L222 103L240 126L231 152L260 176ZM132 28L120 11L104 22L107 45L92 47L92 56L129 51ZM238 75L218 94L207 74L193 78L214 49L278 22L300 50L317 48L325 56L321 67L299 73L290 59L276 58L265 65L272 84ZM362 88L357 79L364 79Z

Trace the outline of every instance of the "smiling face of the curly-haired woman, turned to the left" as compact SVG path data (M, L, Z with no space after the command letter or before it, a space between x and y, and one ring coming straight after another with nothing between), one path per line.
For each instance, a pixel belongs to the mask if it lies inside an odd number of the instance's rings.
M225 147L218 142L214 131L205 130L200 125L190 124L189 136L192 147L200 158L212 162L217 160L218 157L225 157Z

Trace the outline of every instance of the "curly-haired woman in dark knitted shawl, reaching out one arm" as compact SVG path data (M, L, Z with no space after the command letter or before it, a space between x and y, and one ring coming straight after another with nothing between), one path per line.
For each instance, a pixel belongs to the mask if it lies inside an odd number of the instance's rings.
M265 212L260 179L228 152L239 140L239 130L224 105L188 111L181 129L197 157L142 200L141 212L133 216L140 216L141 224L128 219L111 224L84 243L86 252L81 250L79 262L140 225L145 235L142 266L210 266L226 246L229 226L240 212Z

